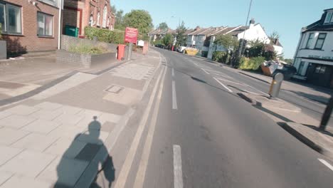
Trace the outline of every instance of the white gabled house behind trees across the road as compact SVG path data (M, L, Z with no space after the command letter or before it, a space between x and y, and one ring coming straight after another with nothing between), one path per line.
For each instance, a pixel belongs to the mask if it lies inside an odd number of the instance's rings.
M278 41L278 39L271 40L263 29L263 26L261 26L260 23L255 24L254 19L251 19L250 26L226 27L221 32L214 33L209 46L208 58L213 57L214 51L226 51L222 46L215 46L213 41L216 36L227 34L236 37L238 41L244 38L246 41L255 41L258 39L263 43L271 43L277 55L283 53L283 47L280 41Z

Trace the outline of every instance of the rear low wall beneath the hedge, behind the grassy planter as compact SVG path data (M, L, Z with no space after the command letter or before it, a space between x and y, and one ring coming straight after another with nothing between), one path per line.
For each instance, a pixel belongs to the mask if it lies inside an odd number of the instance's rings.
M101 41L93 41L88 38L78 38L78 37L73 37L73 36L66 36L62 35L61 36L61 49L68 51L70 46L78 46L82 44L90 44L93 46L102 46L104 48L107 48L107 51L110 52L117 52L117 44L114 43L105 43Z

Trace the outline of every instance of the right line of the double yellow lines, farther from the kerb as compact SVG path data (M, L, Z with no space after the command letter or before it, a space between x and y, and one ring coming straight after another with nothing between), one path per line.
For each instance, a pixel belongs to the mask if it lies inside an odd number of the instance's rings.
M133 186L134 188L142 188L144 184L144 177L146 176L150 150L152 150L152 141L157 122L157 115L159 114L159 105L161 103L161 98L162 98L165 74L166 71L163 74L161 86L159 87L159 93L157 94L157 99L152 114L152 120L150 121L146 141L144 142L144 149L142 152L141 160L139 162L139 169L137 169L137 176L135 177L134 181L134 186Z

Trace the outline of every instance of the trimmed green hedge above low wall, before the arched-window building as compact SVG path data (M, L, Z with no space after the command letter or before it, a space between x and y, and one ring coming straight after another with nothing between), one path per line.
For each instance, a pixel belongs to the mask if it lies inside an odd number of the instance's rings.
M94 36L98 41L106 43L124 43L124 31L110 31L105 28L85 27L85 36L93 40Z

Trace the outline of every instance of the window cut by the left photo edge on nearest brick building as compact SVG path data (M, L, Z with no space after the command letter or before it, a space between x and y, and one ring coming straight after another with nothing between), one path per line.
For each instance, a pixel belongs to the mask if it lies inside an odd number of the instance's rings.
M0 23L4 33L21 34L21 7L0 3Z

